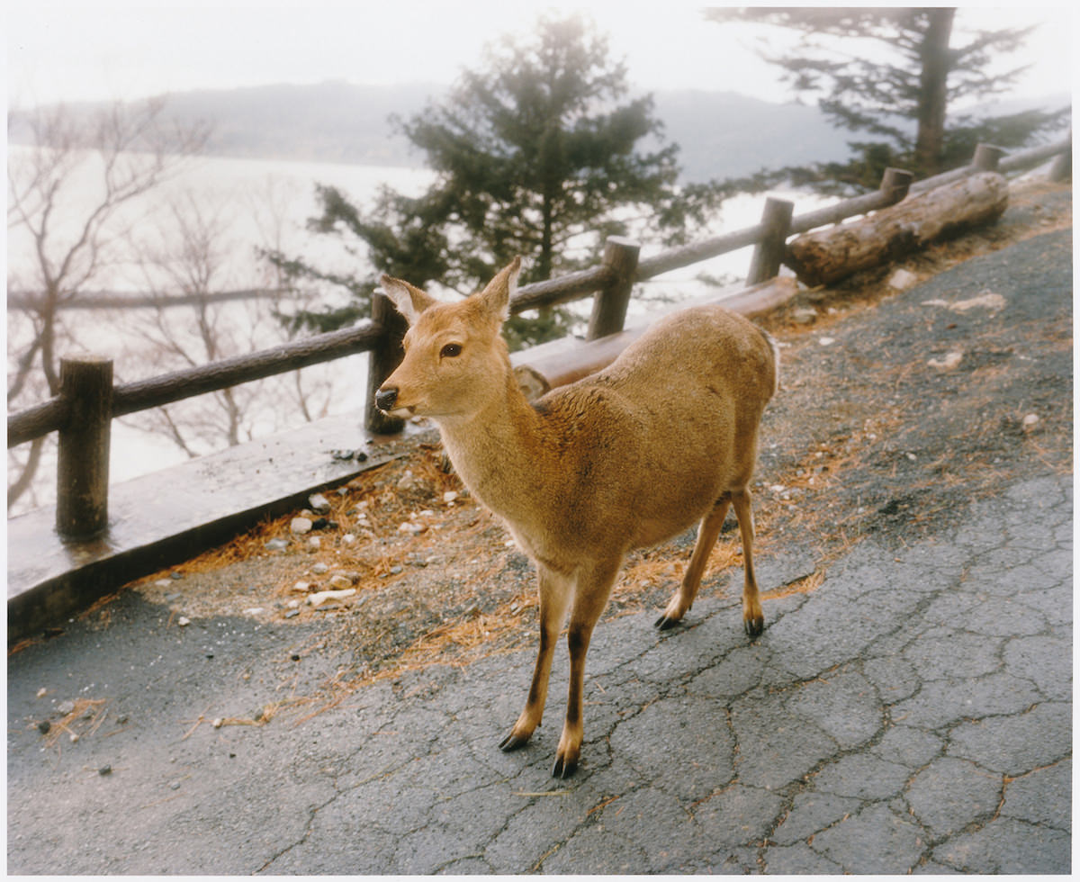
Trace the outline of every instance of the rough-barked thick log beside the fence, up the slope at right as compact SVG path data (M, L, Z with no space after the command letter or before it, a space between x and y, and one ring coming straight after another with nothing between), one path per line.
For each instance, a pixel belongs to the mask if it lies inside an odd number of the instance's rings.
M787 244L784 263L804 284L827 285L930 242L993 223L1008 203L1004 177L983 172L908 196L859 220L800 235Z

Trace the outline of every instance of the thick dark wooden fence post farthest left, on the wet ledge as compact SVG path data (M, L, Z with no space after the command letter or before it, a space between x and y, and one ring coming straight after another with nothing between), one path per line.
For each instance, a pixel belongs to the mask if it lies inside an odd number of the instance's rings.
M109 526L112 359L62 358L60 397L67 417L57 433L56 531L91 539Z

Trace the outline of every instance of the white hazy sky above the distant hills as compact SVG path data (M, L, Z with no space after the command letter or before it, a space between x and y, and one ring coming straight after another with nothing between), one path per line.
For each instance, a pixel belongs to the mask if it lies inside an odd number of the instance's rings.
M189 89L347 80L448 83L501 35L524 35L546 9L580 10L610 38L644 90L789 93L753 51L745 26L702 19L699 4L652 2L53 2L4 0L8 100L134 98ZM1032 70L1020 95L1069 91L1069 6L964 6L964 23L1045 23L1013 60Z

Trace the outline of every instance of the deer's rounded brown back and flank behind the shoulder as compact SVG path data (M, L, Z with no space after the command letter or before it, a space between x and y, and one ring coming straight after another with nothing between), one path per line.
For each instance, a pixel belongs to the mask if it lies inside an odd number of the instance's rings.
M607 369L549 393L567 532L605 524L647 545L694 524L748 483L757 424L775 384L768 338L719 308L658 323Z

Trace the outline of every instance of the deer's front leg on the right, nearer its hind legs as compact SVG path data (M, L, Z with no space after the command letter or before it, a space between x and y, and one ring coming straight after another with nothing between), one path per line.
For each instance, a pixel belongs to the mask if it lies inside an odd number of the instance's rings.
M596 621L607 606L622 559L606 561L582 572L578 579L570 612L566 642L570 651L570 683L566 698L566 720L558 739L552 777L568 778L578 769L581 742L584 737L582 707L584 705L585 654Z

